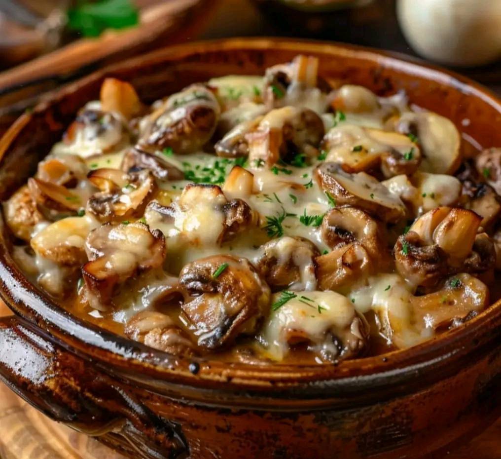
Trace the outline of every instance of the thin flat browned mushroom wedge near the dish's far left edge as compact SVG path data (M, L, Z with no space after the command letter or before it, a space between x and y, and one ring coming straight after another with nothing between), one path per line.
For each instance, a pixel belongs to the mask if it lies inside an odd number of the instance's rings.
M28 188L40 212L51 221L77 215L85 204L80 195L54 183L30 178Z

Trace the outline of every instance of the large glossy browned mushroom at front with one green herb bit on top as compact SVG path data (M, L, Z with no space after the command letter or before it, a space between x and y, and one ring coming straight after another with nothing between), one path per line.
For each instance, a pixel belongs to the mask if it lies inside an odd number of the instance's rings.
M181 270L179 282L194 296L181 308L201 347L215 349L254 333L268 312L270 288L244 258L193 261Z

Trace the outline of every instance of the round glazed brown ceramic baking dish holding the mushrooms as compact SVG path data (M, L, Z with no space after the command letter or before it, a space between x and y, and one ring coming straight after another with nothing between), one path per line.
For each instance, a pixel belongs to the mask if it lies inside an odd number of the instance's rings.
M263 74L298 53L326 78L410 102L455 122L463 147L501 144L501 101L433 67L348 46L224 40L161 50L61 89L0 142L0 199L33 174L106 76L145 101L227 74ZM339 365L227 364L173 357L58 307L21 273L0 219L0 378L47 415L131 457L421 457L499 415L501 302L422 345Z

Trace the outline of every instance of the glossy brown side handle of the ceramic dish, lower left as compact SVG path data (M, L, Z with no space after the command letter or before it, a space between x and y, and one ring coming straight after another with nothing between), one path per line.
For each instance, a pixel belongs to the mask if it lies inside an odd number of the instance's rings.
M178 424L158 417L138 393L16 317L0 319L0 380L54 420L111 446L132 444L145 459L188 452Z

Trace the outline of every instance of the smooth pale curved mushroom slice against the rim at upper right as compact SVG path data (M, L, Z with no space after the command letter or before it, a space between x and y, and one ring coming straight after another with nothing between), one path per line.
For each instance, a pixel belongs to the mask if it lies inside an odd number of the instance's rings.
M396 121L394 130L417 137L423 157L421 171L453 174L461 164L461 138L449 119L426 111L406 112Z

